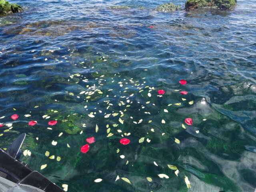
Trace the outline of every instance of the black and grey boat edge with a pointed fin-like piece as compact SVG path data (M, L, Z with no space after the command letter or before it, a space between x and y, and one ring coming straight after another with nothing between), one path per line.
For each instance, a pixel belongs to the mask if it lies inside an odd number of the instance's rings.
M23 133L8 147L0 148L0 192L64 192L42 174L20 162Z

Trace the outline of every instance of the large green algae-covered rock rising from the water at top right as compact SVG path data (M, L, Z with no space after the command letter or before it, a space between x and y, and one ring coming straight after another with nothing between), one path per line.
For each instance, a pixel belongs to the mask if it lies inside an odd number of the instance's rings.
M229 9L234 6L236 6L236 0L187 0L185 4L186 10L199 7Z

